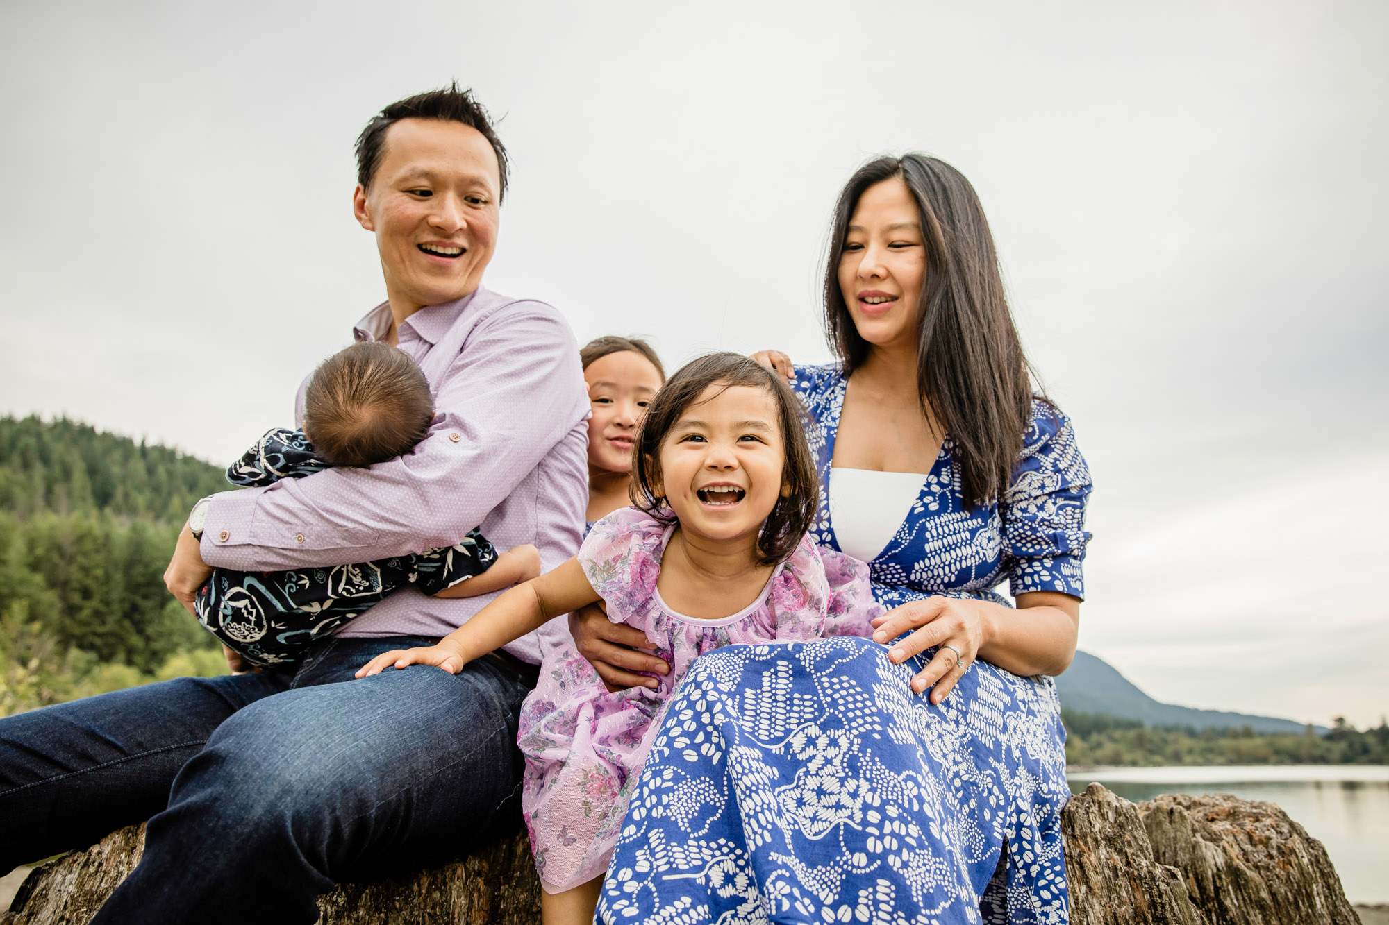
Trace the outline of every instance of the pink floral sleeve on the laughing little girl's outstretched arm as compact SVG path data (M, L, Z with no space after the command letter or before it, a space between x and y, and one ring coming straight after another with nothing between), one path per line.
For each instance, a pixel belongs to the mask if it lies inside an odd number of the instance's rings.
M665 526L649 514L624 507L593 524L579 546L579 567L614 624L629 624L649 608L664 535Z

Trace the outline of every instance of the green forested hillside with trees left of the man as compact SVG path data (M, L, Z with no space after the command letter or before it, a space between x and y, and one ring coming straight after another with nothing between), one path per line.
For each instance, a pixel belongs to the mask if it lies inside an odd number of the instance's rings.
M222 471L65 418L0 418L0 715L226 671L164 588Z

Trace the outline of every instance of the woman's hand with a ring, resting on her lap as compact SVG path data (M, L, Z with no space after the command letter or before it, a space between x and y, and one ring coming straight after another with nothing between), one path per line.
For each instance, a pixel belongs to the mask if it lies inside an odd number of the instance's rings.
M940 703L954 689L956 682L974 664L979 649L992 633L989 604L981 600L960 600L956 597L928 597L914 600L888 611L872 621L874 642L888 643L908 629L917 629L906 639L899 639L888 658L900 665L913 656L932 646L939 646L935 658L911 679L911 689L921 693L935 685L931 703ZM954 646L960 650L956 657Z

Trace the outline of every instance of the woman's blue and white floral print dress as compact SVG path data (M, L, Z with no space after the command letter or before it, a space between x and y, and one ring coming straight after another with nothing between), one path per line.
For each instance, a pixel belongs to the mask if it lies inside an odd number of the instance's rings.
M814 539L829 517L846 379L792 383L820 431ZM1000 499L967 510L945 446L890 543L876 599L1083 596L1090 476L1070 421L1036 400ZM835 638L701 656L675 692L636 783L603 922L1067 922L1065 731L1050 678L979 661L932 706L886 647ZM1007 846L1006 861L1004 846Z

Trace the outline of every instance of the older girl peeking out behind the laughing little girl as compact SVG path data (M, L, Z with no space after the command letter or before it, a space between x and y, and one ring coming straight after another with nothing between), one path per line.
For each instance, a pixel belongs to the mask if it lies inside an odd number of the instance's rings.
M632 440L665 369L651 344L636 338L599 338L579 350L589 386L589 510L596 521L632 503Z

